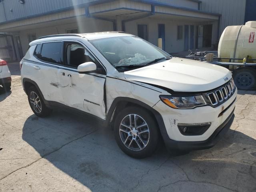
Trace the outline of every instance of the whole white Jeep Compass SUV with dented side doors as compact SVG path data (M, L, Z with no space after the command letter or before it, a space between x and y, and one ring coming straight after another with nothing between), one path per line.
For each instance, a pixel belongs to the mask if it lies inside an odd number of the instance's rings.
M237 89L221 66L171 57L124 32L60 34L30 43L22 61L33 112L84 112L114 126L129 156L214 146L234 119Z

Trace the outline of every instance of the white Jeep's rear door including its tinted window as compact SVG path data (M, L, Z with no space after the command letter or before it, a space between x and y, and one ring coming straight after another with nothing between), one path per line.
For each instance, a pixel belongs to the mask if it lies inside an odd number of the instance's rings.
M63 63L62 41L37 44L34 61L30 62L32 80L34 80L45 100L61 102L58 66Z

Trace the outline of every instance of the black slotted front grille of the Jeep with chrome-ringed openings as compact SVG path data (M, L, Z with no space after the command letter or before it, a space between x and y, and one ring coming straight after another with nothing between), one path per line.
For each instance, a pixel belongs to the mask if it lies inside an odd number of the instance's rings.
M212 106L215 107L228 100L234 94L235 89L236 86L232 78L223 86L216 88L216 90L213 90L203 95L206 101L208 101Z

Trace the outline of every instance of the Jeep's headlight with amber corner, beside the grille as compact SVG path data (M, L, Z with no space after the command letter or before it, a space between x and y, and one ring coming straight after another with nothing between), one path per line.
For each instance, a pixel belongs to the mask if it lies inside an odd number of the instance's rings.
M172 96L160 95L160 99L166 105L174 109L191 109L197 106L204 106L206 102L202 95L198 96Z

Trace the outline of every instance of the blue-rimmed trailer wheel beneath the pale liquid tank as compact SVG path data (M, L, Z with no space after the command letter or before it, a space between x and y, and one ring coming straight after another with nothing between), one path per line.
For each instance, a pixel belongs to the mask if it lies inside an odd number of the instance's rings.
M233 77L238 89L256 89L256 70L254 68L243 67L234 70Z

